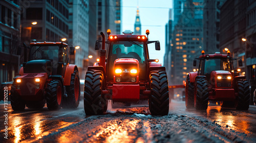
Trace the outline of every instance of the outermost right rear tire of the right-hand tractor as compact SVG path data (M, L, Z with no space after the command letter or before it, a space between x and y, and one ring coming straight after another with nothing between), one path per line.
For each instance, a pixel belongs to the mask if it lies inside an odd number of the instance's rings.
M238 105L237 110L248 110L250 104L250 88L247 80L237 82L238 87Z

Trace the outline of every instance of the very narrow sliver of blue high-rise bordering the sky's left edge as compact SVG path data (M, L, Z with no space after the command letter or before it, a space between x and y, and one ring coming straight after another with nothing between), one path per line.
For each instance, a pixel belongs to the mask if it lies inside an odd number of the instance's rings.
M116 0L116 34L121 34L122 0Z

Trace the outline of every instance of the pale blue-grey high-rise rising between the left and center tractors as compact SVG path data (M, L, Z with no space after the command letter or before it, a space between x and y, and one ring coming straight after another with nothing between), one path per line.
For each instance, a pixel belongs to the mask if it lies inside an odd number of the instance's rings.
M80 47L71 59L80 77L85 77L89 61L89 0L72 0L69 4L69 43Z

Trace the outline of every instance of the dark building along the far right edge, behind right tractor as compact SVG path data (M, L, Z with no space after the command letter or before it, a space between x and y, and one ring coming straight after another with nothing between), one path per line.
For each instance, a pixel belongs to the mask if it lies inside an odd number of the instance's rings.
M256 88L256 1L227 0L221 7L220 49L227 48L232 57L243 60L241 74L245 75L251 87L250 104L253 105L253 91ZM245 38L246 41L242 41Z

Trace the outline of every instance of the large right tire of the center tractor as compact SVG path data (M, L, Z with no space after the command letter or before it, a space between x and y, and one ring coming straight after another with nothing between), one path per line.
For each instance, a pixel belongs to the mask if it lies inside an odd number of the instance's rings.
M167 115L169 111L168 80L164 70L153 71L150 75L151 97L148 102L152 115Z

